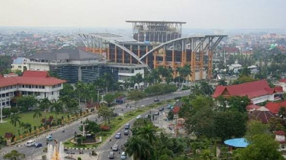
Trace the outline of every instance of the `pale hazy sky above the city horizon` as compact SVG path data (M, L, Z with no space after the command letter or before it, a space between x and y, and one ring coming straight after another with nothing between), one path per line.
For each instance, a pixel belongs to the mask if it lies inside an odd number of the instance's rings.
M0 0L0 26L131 27L125 20L286 29L286 0Z

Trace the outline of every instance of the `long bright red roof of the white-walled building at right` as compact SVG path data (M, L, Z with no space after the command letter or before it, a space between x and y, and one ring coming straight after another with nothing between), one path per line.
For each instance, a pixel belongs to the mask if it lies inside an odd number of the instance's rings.
M217 86L212 95L217 98L222 95L225 89L230 96L248 96L248 98L259 97L263 95L273 94L274 89L271 89L266 80L247 82L239 85Z

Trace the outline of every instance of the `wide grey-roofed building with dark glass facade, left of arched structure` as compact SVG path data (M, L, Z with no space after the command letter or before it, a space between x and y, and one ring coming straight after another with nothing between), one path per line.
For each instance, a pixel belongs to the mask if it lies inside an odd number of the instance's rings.
M79 49L60 49L36 53L26 58L27 70L53 71L69 83L93 82L104 73L110 74L115 81L125 82L137 73L144 77L147 65L107 62L104 56ZM140 86L143 84L135 85Z

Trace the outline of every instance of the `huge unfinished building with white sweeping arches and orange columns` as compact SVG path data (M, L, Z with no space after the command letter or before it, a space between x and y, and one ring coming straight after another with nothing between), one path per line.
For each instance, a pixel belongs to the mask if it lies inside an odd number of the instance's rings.
M177 68L189 65L190 81L211 79L212 55L227 35L182 37L178 21L135 21L133 38L109 33L79 33L86 52L103 55L107 63L117 65L141 64L151 71L159 66L170 68L177 76Z

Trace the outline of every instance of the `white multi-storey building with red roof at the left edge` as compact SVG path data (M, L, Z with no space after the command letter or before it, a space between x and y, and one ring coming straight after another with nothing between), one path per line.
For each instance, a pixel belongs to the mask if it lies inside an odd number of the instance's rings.
M15 95L34 95L57 100L65 80L50 77L48 71L24 71L23 76L0 78L0 107L11 107Z

